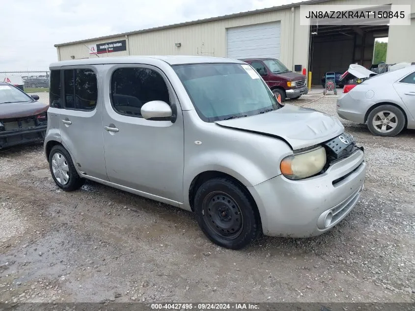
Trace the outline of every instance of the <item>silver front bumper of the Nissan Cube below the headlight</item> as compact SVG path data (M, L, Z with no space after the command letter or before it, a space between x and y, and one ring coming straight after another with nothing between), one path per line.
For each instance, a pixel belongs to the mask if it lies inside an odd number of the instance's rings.
M309 237L330 230L357 203L365 175L364 154L357 150L321 175L303 180L279 175L249 187L264 234ZM325 224L328 214L332 220Z

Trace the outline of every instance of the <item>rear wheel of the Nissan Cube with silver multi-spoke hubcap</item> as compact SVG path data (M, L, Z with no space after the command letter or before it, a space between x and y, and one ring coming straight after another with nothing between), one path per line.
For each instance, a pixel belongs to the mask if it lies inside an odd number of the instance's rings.
M55 145L49 154L49 169L56 185L65 191L82 187L85 180L78 175L69 152L62 145Z

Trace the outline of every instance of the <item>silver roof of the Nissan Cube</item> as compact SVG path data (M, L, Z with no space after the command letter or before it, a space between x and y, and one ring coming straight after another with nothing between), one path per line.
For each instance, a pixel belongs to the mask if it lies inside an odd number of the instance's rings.
M148 60L159 59L170 65L179 64L198 64L198 63L242 63L238 59L204 56L122 56L122 57L97 57L73 60L62 60L52 63L50 67L74 66L74 65L94 65L94 64L119 64L119 63L144 63Z

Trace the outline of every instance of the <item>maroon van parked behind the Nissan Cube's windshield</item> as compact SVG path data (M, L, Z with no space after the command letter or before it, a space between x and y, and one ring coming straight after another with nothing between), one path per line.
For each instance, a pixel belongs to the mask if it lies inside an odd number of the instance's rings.
M281 95L281 102L286 98L297 99L308 93L305 76L292 72L276 58L241 59L249 63L264 79L274 94Z

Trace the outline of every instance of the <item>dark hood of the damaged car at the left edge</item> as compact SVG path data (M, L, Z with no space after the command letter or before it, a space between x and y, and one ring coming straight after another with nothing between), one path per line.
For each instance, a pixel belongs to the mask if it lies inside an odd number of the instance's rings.
M23 118L46 112L49 105L40 102L0 104L0 119Z

